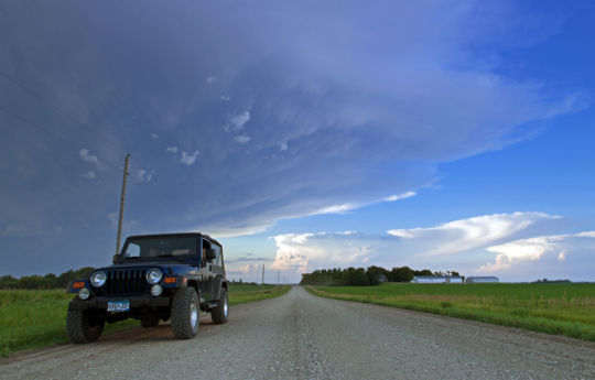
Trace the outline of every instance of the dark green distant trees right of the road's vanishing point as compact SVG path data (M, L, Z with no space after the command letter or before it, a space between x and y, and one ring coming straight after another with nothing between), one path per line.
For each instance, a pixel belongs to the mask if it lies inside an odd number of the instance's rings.
M302 285L355 285L369 286L378 285L382 281L410 282L414 275L459 275L456 271L432 272L429 269L421 271L409 267L393 268L388 270L381 267L371 265L364 268L347 269L322 269L312 273L303 273Z

